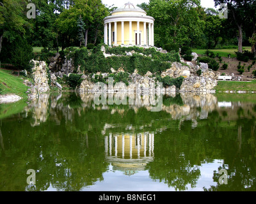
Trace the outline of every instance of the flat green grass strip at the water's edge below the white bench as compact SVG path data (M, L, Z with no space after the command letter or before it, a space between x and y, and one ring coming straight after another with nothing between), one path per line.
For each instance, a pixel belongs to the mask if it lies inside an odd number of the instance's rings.
M256 91L256 80L252 82L218 81L216 92L222 91Z

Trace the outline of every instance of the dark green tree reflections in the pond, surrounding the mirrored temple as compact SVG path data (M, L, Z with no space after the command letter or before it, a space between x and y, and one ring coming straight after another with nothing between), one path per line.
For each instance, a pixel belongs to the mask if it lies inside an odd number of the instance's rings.
M26 189L29 168L37 170L34 189L37 191L49 186L61 191L79 191L90 186L102 180L102 173L108 168L102 134L124 130L157 132L154 161L146 166L152 179L163 180L177 190L186 190L188 185L196 186L201 164L223 159L225 166L220 168L228 169L228 185L217 183L205 190L255 189L253 115L250 119L230 120L229 110L225 114L223 110L214 110L212 96L189 99L189 96L178 95L163 99L163 111L150 112L147 107L96 106L90 97L77 99L75 93L63 94L61 98L50 96L47 105L36 103L34 109L20 113L19 121L15 115L3 120L0 189ZM84 103L85 100L88 103ZM243 116L248 111L244 108L244 114L239 112ZM193 126L195 120L196 126ZM111 128L106 128L107 124ZM218 172L212 175L218 182Z

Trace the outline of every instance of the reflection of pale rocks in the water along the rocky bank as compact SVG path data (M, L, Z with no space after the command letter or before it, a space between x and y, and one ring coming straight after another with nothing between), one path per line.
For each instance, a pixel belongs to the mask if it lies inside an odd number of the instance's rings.
M77 107L76 110L71 108L69 105L63 105L60 102L60 98L63 94L51 95L41 94L36 101L36 98L32 99L26 110L31 110L33 112L33 117L35 122L33 124L40 124L40 122L45 122L47 120L48 114L52 115L52 119L58 124L61 119L58 119L57 110L61 110L63 115L65 115L66 120L74 120L74 112L83 112L84 108L94 108L96 110L109 110L111 114L118 113L120 115L124 114L125 108L120 108L119 105L128 105L130 109L134 112L138 112L138 109L145 107L148 111L152 111L152 108L159 106L159 110L170 113L172 119L178 119L180 122L182 120L192 120L193 126L196 126L196 120L206 119L208 113L216 109L218 106L218 101L212 94L193 94L193 93L181 93L176 95L174 93L170 94L167 98L167 103L164 102L166 98L160 97L152 94L134 94L134 93L90 93L90 94L79 94L81 101L81 107ZM51 108L49 99L51 99ZM168 102L169 101L169 102ZM171 102L170 102L171 101ZM169 105L168 105L169 103ZM116 106L109 106L116 105ZM48 113L47 113L48 111Z

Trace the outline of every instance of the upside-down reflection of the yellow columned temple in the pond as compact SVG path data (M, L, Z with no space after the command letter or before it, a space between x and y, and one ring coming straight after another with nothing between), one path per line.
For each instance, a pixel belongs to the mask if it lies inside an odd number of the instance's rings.
M154 159L154 133L105 136L106 159L115 170L131 175Z

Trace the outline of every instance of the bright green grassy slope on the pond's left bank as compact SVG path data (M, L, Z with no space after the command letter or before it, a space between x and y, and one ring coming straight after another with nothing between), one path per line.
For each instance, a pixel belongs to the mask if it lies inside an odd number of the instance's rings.
M16 94L28 98L28 87L23 84L22 77L12 75L11 71L0 69L0 94Z

